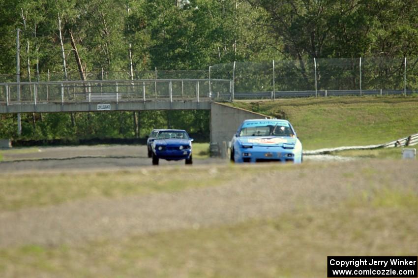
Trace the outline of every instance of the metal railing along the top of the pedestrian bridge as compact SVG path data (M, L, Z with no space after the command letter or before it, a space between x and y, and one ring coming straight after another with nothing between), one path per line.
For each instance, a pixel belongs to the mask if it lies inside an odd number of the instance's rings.
M142 79L0 83L0 102L231 100L227 79Z

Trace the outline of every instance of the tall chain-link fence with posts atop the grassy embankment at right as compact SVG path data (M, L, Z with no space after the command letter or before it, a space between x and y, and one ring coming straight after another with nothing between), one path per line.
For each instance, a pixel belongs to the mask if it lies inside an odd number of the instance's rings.
M234 79L235 97L295 92L319 94L416 93L418 60L406 58L310 59L211 66L211 75ZM261 94L264 93L264 94Z

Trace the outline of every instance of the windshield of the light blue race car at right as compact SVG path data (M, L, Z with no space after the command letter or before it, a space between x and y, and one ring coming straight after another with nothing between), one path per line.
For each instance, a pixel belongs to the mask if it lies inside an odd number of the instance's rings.
M239 132L239 136L294 136L289 124L285 126L281 123L244 126Z

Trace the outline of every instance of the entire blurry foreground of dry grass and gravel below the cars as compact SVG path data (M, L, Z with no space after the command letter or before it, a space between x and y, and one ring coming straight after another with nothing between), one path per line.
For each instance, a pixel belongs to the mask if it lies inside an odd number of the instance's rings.
M327 255L417 255L417 166L0 175L0 277L325 277Z

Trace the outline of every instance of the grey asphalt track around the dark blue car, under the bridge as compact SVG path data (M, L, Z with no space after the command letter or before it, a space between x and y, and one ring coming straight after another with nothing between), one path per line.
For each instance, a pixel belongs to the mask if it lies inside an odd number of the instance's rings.
M37 150L36 150L37 149ZM16 149L18 150L18 149ZM22 149L23 150L23 149ZM193 159L193 164L227 163L226 159ZM184 160L160 160L161 166L184 166ZM72 146L31 148L30 153L3 154L0 172L32 170L123 169L151 165L147 147L140 145Z

